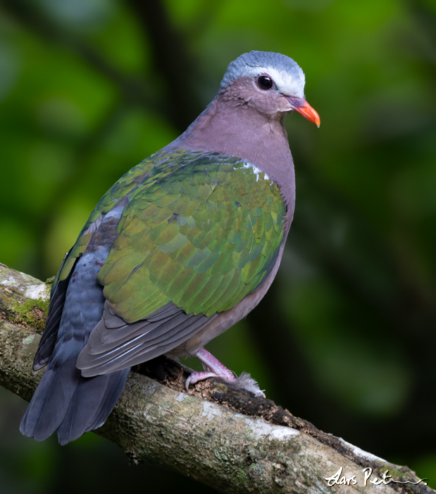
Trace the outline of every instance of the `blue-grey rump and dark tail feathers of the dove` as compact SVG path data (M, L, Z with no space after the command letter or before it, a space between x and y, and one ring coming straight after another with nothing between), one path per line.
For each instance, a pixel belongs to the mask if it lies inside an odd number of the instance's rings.
M54 291L53 316L44 333L48 336L42 337L35 368L47 360L49 363L20 425L24 435L37 441L57 430L59 442L65 445L100 427L123 390L128 368L85 378L76 367L77 356L103 313L103 289L96 275L106 256L103 250L82 255L66 295L61 284Z

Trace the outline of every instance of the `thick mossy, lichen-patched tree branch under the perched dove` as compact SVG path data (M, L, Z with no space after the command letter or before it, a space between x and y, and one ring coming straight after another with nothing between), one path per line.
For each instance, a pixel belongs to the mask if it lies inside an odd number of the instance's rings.
M48 284L0 264L0 384L27 400L40 379L32 359L48 297ZM324 477L341 467L340 478L356 481L344 486L347 493L436 492L424 483L375 487L370 480L386 470L396 481L418 479L219 380L199 382L187 394L186 375L163 357L138 366L97 433L133 462L158 462L223 493L325 493ZM367 467L373 475L364 486Z

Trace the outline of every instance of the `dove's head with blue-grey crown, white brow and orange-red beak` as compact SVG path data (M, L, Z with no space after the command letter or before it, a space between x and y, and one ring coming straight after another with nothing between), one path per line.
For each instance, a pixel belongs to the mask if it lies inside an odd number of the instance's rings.
M289 56L249 52L230 63L220 95L271 119L281 119L283 114L296 110L319 127L318 113L304 98L304 83L304 72Z

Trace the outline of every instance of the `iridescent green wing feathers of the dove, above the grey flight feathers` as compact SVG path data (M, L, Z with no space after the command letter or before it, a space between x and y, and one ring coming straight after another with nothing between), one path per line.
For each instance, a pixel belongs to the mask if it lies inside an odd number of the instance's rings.
M213 315L259 287L283 236L286 211L275 183L218 153L181 151L135 183L137 173L125 175L90 218L129 193L98 277L118 315L132 323L170 301L187 314Z

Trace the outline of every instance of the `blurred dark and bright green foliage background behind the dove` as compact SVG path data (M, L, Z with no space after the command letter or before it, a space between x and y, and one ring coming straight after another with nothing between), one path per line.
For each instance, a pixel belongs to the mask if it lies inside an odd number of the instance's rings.
M321 126L286 117L297 208L280 272L208 349L436 488L434 0L1 0L0 262L55 275L101 195L251 49L297 61ZM2 494L215 492L92 433L24 438L25 407L0 388Z

